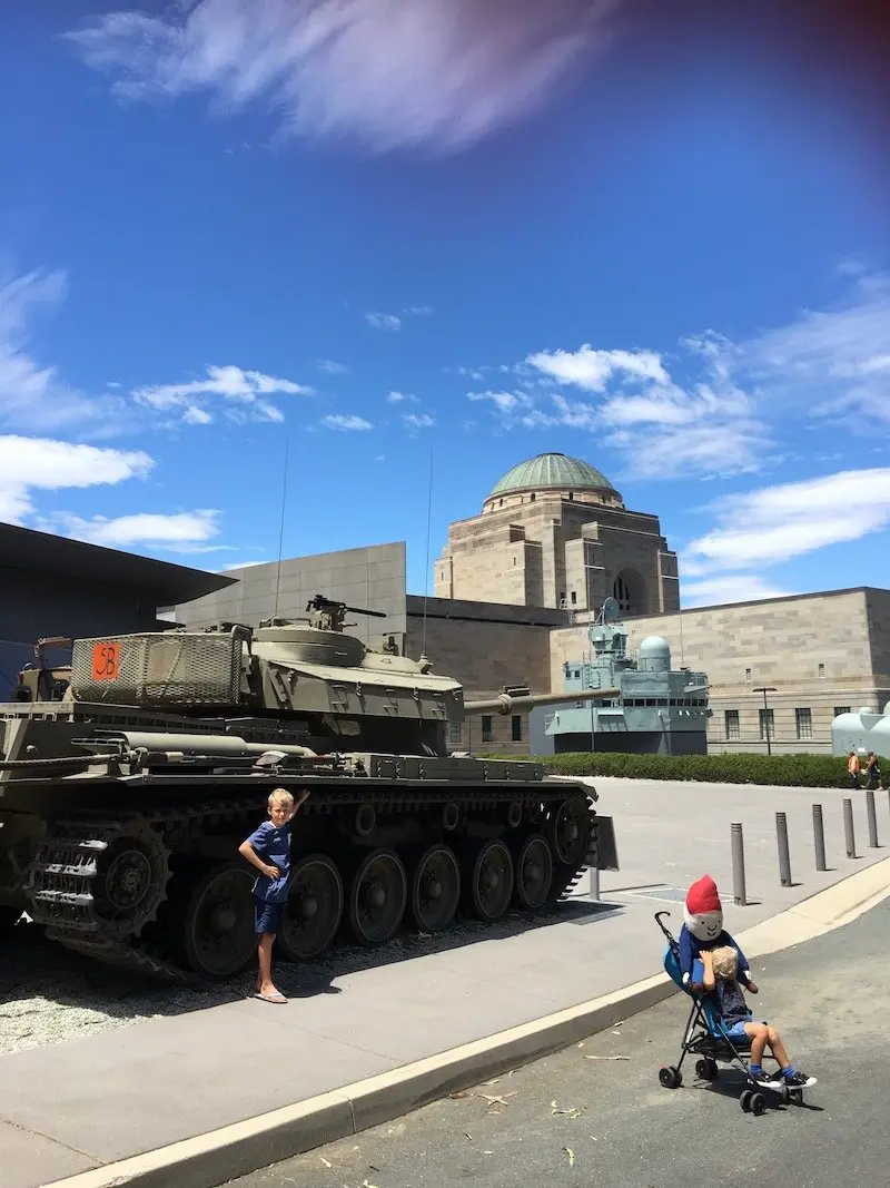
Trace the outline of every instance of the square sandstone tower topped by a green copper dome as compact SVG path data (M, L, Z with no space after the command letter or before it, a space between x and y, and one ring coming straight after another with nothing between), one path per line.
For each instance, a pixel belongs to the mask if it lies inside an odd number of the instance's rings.
M657 516L628 511L587 462L539 454L509 470L458 520L436 564L438 598L623 614L679 607L676 555Z

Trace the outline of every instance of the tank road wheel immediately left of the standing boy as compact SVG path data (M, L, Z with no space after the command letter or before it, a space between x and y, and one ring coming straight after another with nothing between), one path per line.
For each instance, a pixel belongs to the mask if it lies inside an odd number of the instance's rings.
M240 973L254 955L254 878L240 861L220 862L202 876L185 904L185 960L205 978Z

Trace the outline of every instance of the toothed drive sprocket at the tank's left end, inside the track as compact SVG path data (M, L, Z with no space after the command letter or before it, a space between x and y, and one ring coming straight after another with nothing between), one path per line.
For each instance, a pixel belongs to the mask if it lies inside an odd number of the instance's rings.
M135 936L166 898L170 854L147 821L121 826L96 859L91 892L103 934Z

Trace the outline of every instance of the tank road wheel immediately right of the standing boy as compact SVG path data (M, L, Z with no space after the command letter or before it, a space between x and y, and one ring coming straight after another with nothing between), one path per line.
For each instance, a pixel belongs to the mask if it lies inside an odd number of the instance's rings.
M343 879L325 854L294 862L278 946L286 961L309 961L333 942L343 920Z

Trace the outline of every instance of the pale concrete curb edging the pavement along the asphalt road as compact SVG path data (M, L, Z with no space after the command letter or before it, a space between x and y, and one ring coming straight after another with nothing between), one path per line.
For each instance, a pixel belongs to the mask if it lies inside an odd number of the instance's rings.
M890 858L738 934L749 956L764 956L850 923L890 896ZM357 1135L530 1063L637 1015L678 987L656 974L623 990L371 1076L247 1121L56 1180L44 1188L217 1188L259 1168Z

